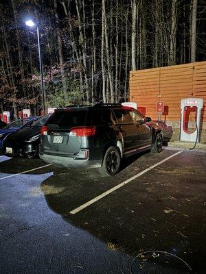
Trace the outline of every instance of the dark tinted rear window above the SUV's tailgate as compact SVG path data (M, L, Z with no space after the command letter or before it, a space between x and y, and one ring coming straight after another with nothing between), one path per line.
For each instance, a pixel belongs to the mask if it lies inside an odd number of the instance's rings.
M85 125L88 110L57 111L47 121L47 125L58 125L62 128Z

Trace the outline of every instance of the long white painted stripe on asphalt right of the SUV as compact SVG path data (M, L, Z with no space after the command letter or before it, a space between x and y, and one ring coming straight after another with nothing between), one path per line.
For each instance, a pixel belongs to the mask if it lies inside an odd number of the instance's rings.
M130 177L129 179L127 179L126 181L122 182L121 184L118 184L117 186L107 190L106 192L102 193L101 195L91 199L90 201L88 201L87 203L84 203L82 206L79 206L78 208L76 208L75 210L71 210L69 213L70 214L76 214L78 213L80 210L83 210L84 208L87 208L88 206L90 206L92 203L95 203L96 201L99 201L100 199L102 199L103 197L105 197L106 195L109 195L111 192L117 190L118 188L121 188L122 186L132 182L134 179L136 179L137 177L143 175L144 173L150 171L151 169L155 169L156 166L159 166L160 164L163 164L163 162L166 162L168 160L170 160L171 158L175 157L176 155L179 155L180 153L182 153L183 150L178 151L172 155L170 155L168 158L165 158L164 160L158 162L157 164L153 164L153 166L148 167L148 169L145 169L144 171L141 171L140 173L138 173L137 175Z

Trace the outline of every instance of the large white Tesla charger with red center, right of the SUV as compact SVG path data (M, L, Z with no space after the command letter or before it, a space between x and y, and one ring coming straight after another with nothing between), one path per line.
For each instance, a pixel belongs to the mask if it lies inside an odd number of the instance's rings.
M203 99L181 99L181 141L199 142L202 109Z

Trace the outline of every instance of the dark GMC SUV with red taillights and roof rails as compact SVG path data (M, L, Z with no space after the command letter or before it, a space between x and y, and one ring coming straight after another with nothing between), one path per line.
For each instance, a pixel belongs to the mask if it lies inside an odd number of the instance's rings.
M161 125L117 104L57 109L41 128L40 158L62 167L95 167L115 175L122 158L152 149L159 153Z

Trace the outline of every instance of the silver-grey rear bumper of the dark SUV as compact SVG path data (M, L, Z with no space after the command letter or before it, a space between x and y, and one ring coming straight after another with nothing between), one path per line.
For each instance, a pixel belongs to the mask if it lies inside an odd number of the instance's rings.
M66 156L39 154L39 158L48 164L58 167L97 168L102 166L102 160L80 160Z

